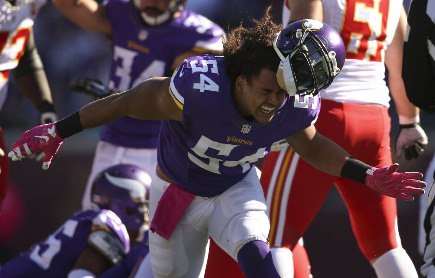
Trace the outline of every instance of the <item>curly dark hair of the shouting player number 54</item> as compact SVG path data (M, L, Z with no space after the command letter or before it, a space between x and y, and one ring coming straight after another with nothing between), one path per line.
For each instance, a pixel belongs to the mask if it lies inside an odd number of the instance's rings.
M278 69L280 58L272 42L274 34L281 31L282 25L272 21L271 10L272 7L269 6L261 20L251 17L253 27L247 29L241 23L228 33L224 41L224 57L231 84L235 83L238 76L244 76L251 84L252 77L259 76L261 69Z

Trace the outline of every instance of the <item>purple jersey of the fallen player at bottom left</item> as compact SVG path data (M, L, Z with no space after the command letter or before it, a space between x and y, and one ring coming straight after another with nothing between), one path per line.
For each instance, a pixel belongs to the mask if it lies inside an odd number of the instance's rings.
M91 238L95 237L97 240L93 241ZM67 277L78 256L92 242L95 249L114 261L130 251L127 230L116 214L109 210L79 211L45 241L2 265L0 277Z

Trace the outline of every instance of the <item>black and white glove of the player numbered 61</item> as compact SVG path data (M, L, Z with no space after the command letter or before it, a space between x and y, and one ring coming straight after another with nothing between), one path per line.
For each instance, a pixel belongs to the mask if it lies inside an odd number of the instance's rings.
M428 137L423 131L420 123L401 124L399 134L396 139L396 157L405 153L405 159L411 160L423 154L428 146Z

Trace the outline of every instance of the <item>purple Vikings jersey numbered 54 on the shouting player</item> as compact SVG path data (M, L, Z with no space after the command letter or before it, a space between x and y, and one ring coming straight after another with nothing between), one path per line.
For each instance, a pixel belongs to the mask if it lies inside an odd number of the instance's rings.
M242 117L231 97L224 57L184 60L170 93L182 121L163 121L157 161L169 178L193 194L211 197L241 181L271 144L309 127L319 95L289 97L267 124Z

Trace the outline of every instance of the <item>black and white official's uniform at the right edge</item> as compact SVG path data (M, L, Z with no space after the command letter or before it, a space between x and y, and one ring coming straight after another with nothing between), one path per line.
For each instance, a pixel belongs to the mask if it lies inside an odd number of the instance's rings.
M402 78L412 103L435 114L435 0L412 0L409 5ZM434 184L432 191L433 187ZM424 221L426 246L420 271L425 278L435 278L434 192L429 191L429 196L430 205Z

